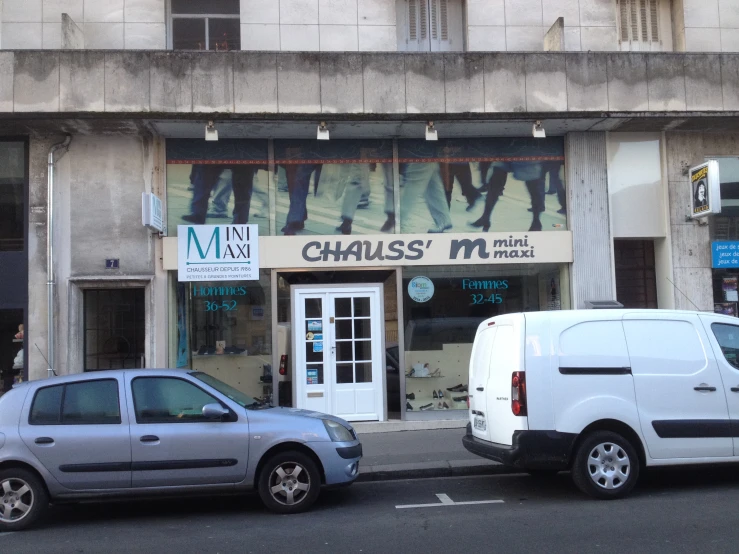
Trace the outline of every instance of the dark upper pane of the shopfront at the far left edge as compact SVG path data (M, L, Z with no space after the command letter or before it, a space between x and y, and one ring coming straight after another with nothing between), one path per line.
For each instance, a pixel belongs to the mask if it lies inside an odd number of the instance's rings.
M23 250L25 182L25 144L0 141L0 252Z

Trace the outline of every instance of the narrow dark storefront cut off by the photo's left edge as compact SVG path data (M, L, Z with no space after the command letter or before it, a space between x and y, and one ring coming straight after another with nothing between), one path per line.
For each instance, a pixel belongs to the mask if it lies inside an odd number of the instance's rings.
M27 142L0 140L0 392L26 375Z

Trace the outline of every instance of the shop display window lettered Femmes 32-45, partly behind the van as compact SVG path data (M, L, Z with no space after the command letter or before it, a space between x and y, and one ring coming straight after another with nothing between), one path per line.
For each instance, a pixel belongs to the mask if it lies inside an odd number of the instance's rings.
M406 414L467 409L469 359L482 321L562 304L556 265L405 268Z

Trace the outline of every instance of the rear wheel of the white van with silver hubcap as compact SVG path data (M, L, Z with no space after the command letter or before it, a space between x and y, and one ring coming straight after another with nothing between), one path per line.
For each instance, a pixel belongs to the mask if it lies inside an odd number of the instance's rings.
M639 478L639 457L618 433L595 431L575 452L572 480L586 494L604 500L622 498Z

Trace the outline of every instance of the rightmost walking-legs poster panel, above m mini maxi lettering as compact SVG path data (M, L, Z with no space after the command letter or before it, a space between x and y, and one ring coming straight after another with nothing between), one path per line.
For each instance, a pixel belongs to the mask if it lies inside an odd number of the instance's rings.
M402 233L567 229L562 139L399 140Z

